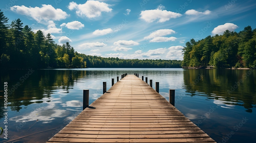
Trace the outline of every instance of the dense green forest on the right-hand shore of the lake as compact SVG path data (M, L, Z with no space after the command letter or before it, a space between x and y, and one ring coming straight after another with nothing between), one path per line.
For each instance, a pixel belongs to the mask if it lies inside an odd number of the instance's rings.
M245 27L240 32L226 30L222 35L186 42L182 66L216 68L255 68L256 29Z

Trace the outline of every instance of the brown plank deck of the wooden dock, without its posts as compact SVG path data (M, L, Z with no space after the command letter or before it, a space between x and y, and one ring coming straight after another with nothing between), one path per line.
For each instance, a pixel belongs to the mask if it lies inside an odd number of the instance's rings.
M127 75L47 143L63 142L215 141L146 82Z

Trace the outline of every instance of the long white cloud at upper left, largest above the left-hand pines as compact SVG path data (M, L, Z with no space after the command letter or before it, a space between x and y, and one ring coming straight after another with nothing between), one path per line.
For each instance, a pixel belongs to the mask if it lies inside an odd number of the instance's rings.
M65 11L45 4L42 7L13 6L10 7L10 10L29 16L38 23L47 23L49 20L62 20L69 16Z

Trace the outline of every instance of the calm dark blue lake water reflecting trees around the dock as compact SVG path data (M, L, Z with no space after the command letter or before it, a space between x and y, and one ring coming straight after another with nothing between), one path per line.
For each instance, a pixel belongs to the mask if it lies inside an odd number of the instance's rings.
M169 89L176 89L176 108L216 142L255 142L255 70L88 68L26 75L28 71L1 70L1 91L4 82L11 91L8 141L37 133L16 142L45 143L82 111L83 89L90 90L91 104L102 95L103 81L109 89L111 78L116 82L123 73L138 73L153 79L153 88L159 82L159 93L167 100ZM0 92L0 127L5 125L3 95ZM7 141L0 137L0 142Z

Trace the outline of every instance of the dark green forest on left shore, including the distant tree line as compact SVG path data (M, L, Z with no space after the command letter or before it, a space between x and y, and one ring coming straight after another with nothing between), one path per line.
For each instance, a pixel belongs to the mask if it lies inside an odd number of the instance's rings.
M69 44L59 45L50 33L8 18L0 10L0 67L24 68L181 68L182 61L162 59L119 59L80 54Z

